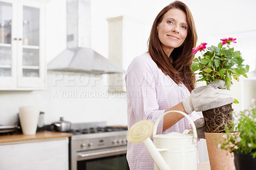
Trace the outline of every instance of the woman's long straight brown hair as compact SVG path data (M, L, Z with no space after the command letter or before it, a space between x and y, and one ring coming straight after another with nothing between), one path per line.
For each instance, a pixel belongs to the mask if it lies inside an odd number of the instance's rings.
M167 56L158 38L157 26L163 20L164 14L173 8L186 13L188 35L182 45L173 49L171 55ZM148 52L157 66L177 84L183 83L190 92L195 88L196 82L195 77L192 75L193 72L190 69L194 58L192 49L196 46L196 41L197 35L193 16L188 6L180 1L174 1L159 12L154 20L148 39Z

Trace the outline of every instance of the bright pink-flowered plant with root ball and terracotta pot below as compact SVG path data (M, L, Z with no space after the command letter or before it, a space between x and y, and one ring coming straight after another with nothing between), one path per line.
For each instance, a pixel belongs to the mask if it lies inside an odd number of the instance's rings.
M239 81L239 77L246 73L249 66L243 65L244 59L241 58L239 51L234 51L234 47L230 47L230 43L236 43L236 38L223 38L218 46L212 45L206 47L207 43L201 43L198 47L193 48L194 54L200 51L202 57L194 59L191 70L194 75L199 75L197 81L205 81L209 84L213 81L225 81L226 89L229 89L232 80ZM234 103L238 103L237 100ZM226 150L217 148L217 139L220 139L225 132L225 128L232 123L233 116L232 103L223 105L222 107L203 111L205 124L205 139L207 143L207 151L211 169L235 169L234 156Z

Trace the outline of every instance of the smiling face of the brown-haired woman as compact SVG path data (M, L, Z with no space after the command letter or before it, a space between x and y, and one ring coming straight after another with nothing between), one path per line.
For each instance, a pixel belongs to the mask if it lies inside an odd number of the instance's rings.
M186 13L172 8L166 12L157 26L158 37L167 56L180 47L188 35Z

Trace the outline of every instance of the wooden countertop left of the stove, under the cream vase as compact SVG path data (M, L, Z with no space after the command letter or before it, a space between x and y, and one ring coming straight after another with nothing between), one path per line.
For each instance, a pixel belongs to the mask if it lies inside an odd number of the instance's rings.
M36 132L35 135L24 135L24 134L13 134L13 135L0 135L0 143L12 143L18 141L29 141L36 139L51 139L58 137L71 137L72 134L62 133L62 132L50 132L50 131L42 131Z

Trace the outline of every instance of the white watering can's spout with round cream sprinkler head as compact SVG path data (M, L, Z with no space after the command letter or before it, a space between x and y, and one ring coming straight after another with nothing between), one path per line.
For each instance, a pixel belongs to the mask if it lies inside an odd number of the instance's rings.
M143 142L150 153L154 162L161 170L170 170L161 153L157 150L156 146L150 139L153 133L154 123L150 120L141 120L132 125L127 132L127 140L130 143L141 143Z

